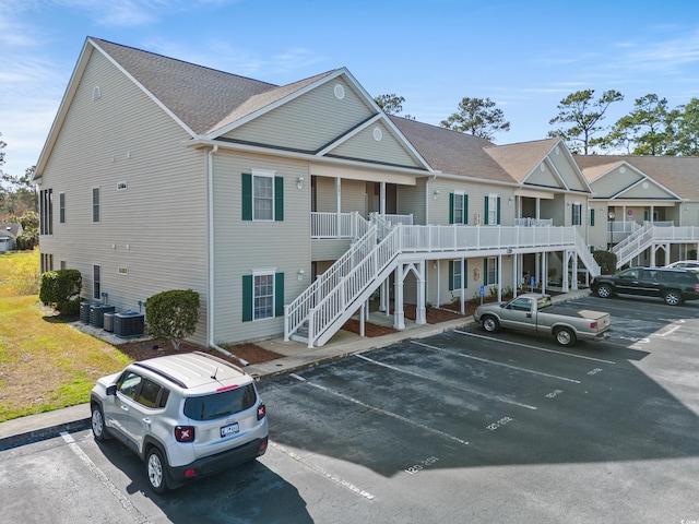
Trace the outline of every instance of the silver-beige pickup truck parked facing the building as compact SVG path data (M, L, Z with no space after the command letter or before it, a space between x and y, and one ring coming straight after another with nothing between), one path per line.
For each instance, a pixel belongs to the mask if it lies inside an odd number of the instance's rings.
M500 327L546 333L561 346L572 346L578 338L601 337L609 329L609 313L554 306L549 295L528 293L502 303L484 303L473 315L489 333Z

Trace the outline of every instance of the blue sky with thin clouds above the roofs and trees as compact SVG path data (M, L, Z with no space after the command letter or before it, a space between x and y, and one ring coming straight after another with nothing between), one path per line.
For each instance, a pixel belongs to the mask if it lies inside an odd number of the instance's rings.
M649 93L699 97L699 2L686 0L0 0L0 140L36 164L87 36L286 84L346 67L371 96L439 124L489 97L538 140L570 93L617 90L612 124Z

